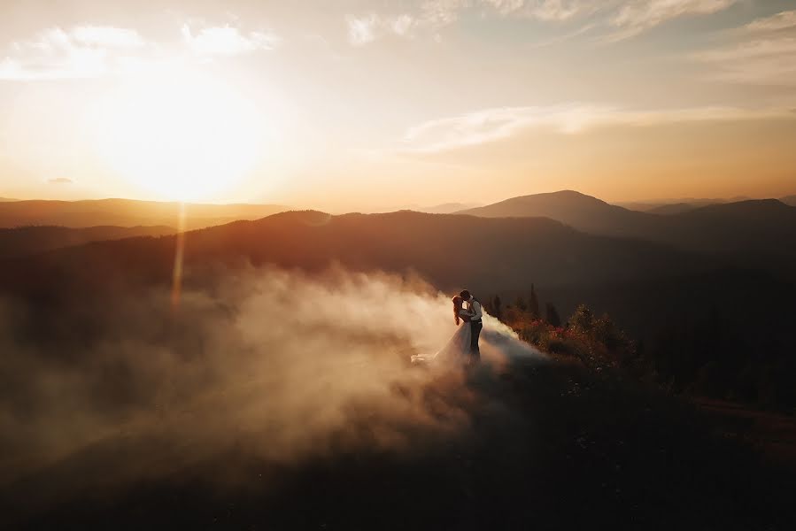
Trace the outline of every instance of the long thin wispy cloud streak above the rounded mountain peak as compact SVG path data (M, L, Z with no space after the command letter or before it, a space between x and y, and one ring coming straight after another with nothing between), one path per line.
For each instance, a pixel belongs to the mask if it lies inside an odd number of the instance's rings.
M731 107L652 111L594 104L499 107L452 118L434 119L411 127L406 132L401 150L455 150L505 140L533 128L546 128L562 135L576 135L595 127L648 127L680 122L765 119L786 115L787 111L778 109Z

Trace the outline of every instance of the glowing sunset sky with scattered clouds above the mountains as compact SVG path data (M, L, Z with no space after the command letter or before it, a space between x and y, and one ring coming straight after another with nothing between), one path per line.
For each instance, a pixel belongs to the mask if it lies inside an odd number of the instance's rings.
M0 3L0 196L796 194L796 1Z

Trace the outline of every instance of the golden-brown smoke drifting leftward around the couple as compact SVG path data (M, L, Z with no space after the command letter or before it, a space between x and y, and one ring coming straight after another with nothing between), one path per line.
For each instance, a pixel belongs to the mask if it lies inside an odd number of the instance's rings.
M34 315L4 301L0 484L59 463L77 466L76 482L88 486L155 478L232 450L291 464L467 437L468 408L480 399L473 374L408 363L455 331L448 294L339 267L219 278L186 289L177 308L167 289L120 294L86 311L92 331L80 340L39 330L57 340L35 341ZM82 326L79 313L63 316L66 330ZM510 358L545 360L497 319L484 325L483 373ZM123 455L106 455L106 443Z

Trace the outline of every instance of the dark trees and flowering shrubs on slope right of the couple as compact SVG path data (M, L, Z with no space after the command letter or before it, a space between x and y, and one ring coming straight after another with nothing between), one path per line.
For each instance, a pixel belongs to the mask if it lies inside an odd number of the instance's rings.
M660 323L659 332L644 342L631 338L607 313L598 316L586 304L578 305L565 321L552 303L545 304L543 313L533 284L529 296L517 296L512 304L499 296L483 304L523 341L556 357L577 358L595 371L619 369L677 394L788 412L796 408L791 380L796 359L787 352L770 352L781 345L769 337L749 344L742 333L746 331L717 310L705 319ZM774 355L755 355L761 349Z

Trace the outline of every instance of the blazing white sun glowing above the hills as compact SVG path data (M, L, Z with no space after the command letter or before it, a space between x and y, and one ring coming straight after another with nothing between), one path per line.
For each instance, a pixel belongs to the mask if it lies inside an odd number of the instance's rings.
M126 85L103 106L103 156L135 186L176 201L213 199L262 155L257 109L207 76Z

